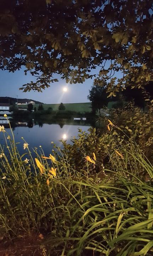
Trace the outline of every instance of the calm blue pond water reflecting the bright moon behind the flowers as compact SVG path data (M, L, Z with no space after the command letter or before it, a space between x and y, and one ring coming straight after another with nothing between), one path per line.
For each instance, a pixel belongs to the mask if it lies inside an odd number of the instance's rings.
M41 146L46 156L52 152L53 143L62 148L61 139L67 140L67 143L72 143L71 139L77 137L78 129L87 132L91 126L95 126L94 122L66 119L49 121L48 123L45 120L36 121L29 119L26 121L15 121L10 119L10 123L15 136L15 142L18 143L17 148L20 154L25 153L23 149L23 137L29 144L30 151L35 147L41 150ZM11 135L7 120L0 120L0 125L4 125L6 137L7 134ZM4 134L2 132L0 133L0 144L1 146L5 145Z

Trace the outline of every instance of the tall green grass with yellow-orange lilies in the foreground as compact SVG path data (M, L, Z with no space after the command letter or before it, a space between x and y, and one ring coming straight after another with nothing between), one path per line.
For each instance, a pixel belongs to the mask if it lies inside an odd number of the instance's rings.
M13 133L8 137L4 132L4 136L6 148L1 147L0 152L1 237L42 233L50 255L153 255L153 166L141 150L135 154L126 151L124 159L115 154L118 172L111 162L99 178L99 174L89 173L94 164L87 162L85 170L76 171L66 154L52 153L55 160L51 161L42 158L41 148L34 149L43 166L40 170L28 144L26 155L20 156ZM131 170L129 159L140 172L147 172L148 181ZM57 168L56 176L51 167Z

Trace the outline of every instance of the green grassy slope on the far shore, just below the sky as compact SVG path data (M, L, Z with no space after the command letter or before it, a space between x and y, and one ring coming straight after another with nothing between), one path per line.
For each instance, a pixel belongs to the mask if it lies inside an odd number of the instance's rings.
M44 110L47 110L49 107L53 109L53 111L57 111L60 104L43 104ZM34 107L38 109L39 104L35 104ZM66 110L76 111L76 112L91 112L91 103L64 103ZM20 105L19 108L27 108L26 105Z

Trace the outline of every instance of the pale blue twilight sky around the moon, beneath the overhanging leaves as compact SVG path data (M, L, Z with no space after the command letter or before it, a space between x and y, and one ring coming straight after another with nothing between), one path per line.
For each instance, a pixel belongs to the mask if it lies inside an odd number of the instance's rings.
M35 77L28 74L24 75L24 68L14 73L9 73L7 70L0 70L0 96L17 97L18 98L31 98L43 103L78 103L89 102L87 95L91 89L94 79L87 79L83 84L66 84L66 81L60 79L60 75L55 75L59 82L51 83L49 88L42 92L30 91L23 92L19 90L23 84L30 81L35 81ZM93 69L90 74L98 74L100 68ZM117 77L121 76L118 73ZM67 87L67 92L63 92L63 87Z

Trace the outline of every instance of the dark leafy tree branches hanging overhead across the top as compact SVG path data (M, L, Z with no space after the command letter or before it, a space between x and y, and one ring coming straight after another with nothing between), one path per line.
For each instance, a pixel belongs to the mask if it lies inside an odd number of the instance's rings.
M56 74L71 84L107 82L110 96L125 82L153 80L152 0L1 0L0 7L0 69L24 66L36 76L23 91L49 87Z

